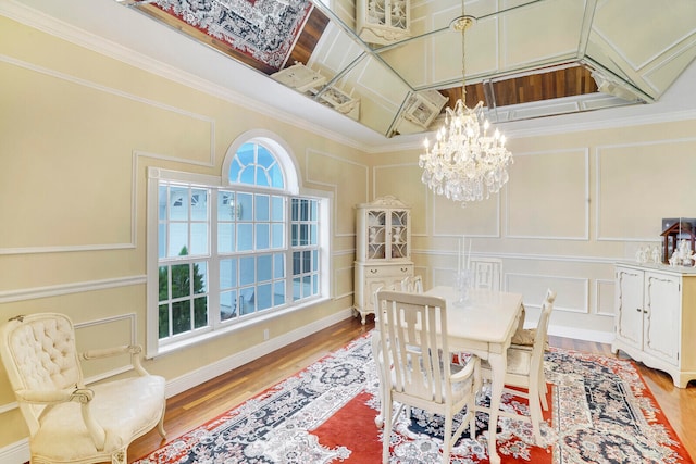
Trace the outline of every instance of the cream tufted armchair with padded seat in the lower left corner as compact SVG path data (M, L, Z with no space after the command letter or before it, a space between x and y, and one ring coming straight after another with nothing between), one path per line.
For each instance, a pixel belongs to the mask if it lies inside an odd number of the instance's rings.
M127 464L130 442L158 426L164 438L164 378L140 365L140 347L78 354L62 314L13 317L0 327L0 354L29 428L32 463ZM80 360L129 354L138 374L84 385Z

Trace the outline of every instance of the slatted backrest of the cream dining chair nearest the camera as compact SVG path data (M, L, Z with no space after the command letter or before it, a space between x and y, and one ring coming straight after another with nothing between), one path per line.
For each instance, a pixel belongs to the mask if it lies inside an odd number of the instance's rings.
M447 337L443 337L445 300L402 291L380 291L376 299L382 349L393 363L389 388L418 401L444 403L451 393L443 380L450 376L449 362L443 358L449 355Z

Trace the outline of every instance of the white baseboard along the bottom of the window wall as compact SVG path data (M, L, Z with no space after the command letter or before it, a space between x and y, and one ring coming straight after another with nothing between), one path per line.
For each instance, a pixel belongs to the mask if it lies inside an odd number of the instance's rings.
M166 398L178 394L183 391L194 388L211 378L217 377L228 371L237 368L250 361L272 353L294 341L308 337L321 329L330 327L343 319L352 317L352 309L346 309L332 314L323 319L314 321L312 324L300 327L296 330L284 334L279 337L272 338L261 344L257 344L232 356L217 361L216 363L207 365L199 369L192 371L178 378L169 380L165 387ZM29 440L24 439L11 443L4 448L0 448L0 463L3 464L24 464L29 461Z

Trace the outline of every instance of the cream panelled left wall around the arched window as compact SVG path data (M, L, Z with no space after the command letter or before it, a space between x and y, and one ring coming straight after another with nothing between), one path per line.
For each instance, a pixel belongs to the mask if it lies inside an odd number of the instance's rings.
M333 298L146 368L176 381L244 359L263 329L284 340L350 316L352 205L371 199L365 153L3 16L0 101L0 319L59 311L79 326L80 348L145 344L147 170L220 176L227 148L250 129L283 139L301 188L332 199ZM4 372L0 424L0 450L27 435Z

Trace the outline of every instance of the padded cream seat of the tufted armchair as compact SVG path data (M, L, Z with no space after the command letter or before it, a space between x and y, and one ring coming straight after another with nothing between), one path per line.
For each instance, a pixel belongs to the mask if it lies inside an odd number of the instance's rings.
M133 437L160 422L164 386L163 377L149 375L88 387L95 392L91 414L104 428L104 451L127 446ZM44 456L47 462L71 462L96 452L78 402L47 407L40 422L41 427L30 438L35 456Z

